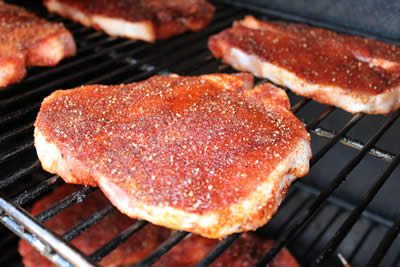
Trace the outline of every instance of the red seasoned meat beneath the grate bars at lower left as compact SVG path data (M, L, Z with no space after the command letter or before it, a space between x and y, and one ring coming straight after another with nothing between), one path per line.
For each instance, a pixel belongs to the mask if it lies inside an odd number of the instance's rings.
M33 205L32 214L37 215L41 213L76 190L72 185L62 185L50 195L37 201ZM45 224L50 230L62 235L76 224L90 218L93 213L104 208L108 203L108 200L98 191L88 196L83 202L63 210ZM133 223L134 220L118 212L114 212L101 219L97 224L91 226L71 242L84 254L90 255ZM103 258L99 265L111 267L135 263L160 245L168 235L169 231L166 229L154 225L146 225L138 233L125 241L125 243ZM26 267L54 266L23 240L19 243L19 253Z

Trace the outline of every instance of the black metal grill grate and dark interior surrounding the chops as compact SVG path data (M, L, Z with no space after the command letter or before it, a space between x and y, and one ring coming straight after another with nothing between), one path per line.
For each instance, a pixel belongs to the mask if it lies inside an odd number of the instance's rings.
M40 168L33 147L33 122L42 99L55 89L82 84L128 83L155 74L197 75L234 72L212 58L207 38L245 14L266 20L282 19L217 3L212 24L199 33L187 33L156 44L108 37L58 16L48 14L40 1L18 4L48 18L62 21L73 32L78 53L53 68L31 68L27 78L0 92L0 266L22 266L19 237L35 245L58 264L87 261L96 264L131 235L146 227L133 223L89 256L71 248L69 240L111 212L110 205L62 236L47 231L43 222L97 189L81 187L33 218L31 204L63 182ZM267 10L268 11L268 10ZM261 82L262 80L257 80ZM400 266L399 112L387 116L349 114L288 91L293 112L312 136L313 158L309 175L296 182L272 221L257 232L276 239L265 252L265 264L279 248L287 247L303 266L341 266L341 254L354 266ZM14 233L12 233L11 229ZM188 233L175 232L137 266L148 266ZM239 235L215 247L200 266L207 266ZM83 266L83 265L79 265Z

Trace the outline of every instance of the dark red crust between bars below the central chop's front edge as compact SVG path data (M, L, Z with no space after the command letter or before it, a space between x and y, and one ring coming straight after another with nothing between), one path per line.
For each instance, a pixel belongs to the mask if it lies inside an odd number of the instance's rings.
M189 267L195 266L203 259L218 240L207 239L200 236L191 236L165 254L154 267ZM215 262L212 267L250 267L255 266L258 260L273 246L274 241L265 240L254 234L242 234L231 247L229 247ZM298 267L296 259L287 249L282 249L269 267Z

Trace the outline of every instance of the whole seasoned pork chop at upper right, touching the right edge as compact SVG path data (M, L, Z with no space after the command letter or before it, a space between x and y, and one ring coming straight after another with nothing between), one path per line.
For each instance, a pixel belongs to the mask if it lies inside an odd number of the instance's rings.
M400 107L400 48L302 24L245 17L210 37L217 58L349 112Z

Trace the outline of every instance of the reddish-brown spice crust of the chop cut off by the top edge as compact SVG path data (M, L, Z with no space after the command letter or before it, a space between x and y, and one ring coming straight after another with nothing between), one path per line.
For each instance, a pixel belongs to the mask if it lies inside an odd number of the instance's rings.
M49 2L49 0L44 0ZM165 39L187 30L199 31L214 17L215 8L206 0L58 0L84 14L118 18L128 22L149 21L156 38ZM94 25L94 27L97 27Z

